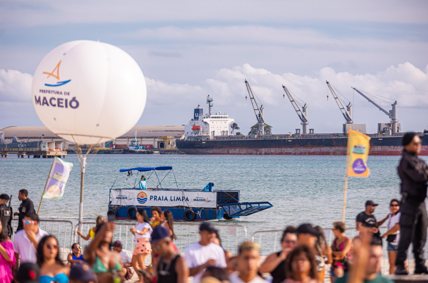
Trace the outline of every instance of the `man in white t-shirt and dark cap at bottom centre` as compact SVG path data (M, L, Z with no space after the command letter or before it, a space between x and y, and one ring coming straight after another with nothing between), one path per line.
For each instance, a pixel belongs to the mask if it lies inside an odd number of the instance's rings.
M201 240L184 249L184 258L189 266L189 275L193 276L193 283L201 281L202 274L208 266L226 267L226 258L223 249L212 243L215 237L213 224L204 222L199 226Z

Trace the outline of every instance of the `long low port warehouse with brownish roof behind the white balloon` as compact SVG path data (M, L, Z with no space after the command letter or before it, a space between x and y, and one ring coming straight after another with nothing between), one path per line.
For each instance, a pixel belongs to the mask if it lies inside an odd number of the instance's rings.
M57 137L47 127L6 127L0 129L4 132L4 138L11 140L18 137L19 141L64 141ZM183 126L135 126L124 135L111 140L110 142L97 145L100 148L108 148L109 145L126 145L128 147L132 140L137 138L140 145L146 148L167 149L175 148L175 140L184 137ZM64 141L66 149L72 149L75 144L70 141Z

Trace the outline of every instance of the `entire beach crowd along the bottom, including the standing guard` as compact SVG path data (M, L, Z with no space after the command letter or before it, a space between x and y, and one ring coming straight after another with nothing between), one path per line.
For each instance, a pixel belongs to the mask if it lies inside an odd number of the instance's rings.
M376 204L365 203L356 217L358 235L346 235L344 222L332 225L334 240L327 243L320 226L302 223L288 226L281 237L282 250L260 260L259 245L244 241L236 255L221 246L220 233L210 222L199 226L199 241L179 251L174 245L174 221L169 210L153 207L150 218L145 209L136 212L137 223L130 229L135 236L132 252L113 242L115 222L99 216L88 235L91 240L82 252L79 243L70 248L66 261L60 256L58 240L39 227L40 219L26 190L19 191L18 212L7 206L10 197L0 195L0 283L119 283L133 273L139 282L194 283L317 283L330 273L332 283L391 282L382 277L381 257L386 241L390 274L408 274L407 250L413 243L415 274L428 274L423 257L428 219L424 199L428 167L417 157L420 139L416 134L403 137L403 158L399 165L402 180L401 201L392 199L390 213L377 221ZM9 202L10 203L10 202ZM11 218L18 216L13 242ZM379 227L387 221L386 232ZM151 263L146 265L146 257ZM330 270L326 270L330 268Z

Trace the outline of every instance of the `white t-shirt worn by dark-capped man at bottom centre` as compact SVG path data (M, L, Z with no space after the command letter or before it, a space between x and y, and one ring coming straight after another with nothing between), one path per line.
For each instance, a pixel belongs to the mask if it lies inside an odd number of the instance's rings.
M203 265L210 259L215 259L214 266L224 268L226 267L226 258L224 257L224 250L217 244L211 243L207 246L202 246L199 243L193 243L184 249L184 259L187 261L189 268L198 267ZM202 274L205 269L201 270L198 274L193 276L193 283L201 281Z

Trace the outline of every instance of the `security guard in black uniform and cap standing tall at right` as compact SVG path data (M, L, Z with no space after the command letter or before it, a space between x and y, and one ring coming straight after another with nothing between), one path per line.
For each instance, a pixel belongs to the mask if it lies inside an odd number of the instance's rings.
M410 243L413 243L415 256L415 274L428 273L425 266L424 246L426 242L426 216L425 198L428 181L428 166L417 157L420 153L421 140L416 133L406 133L403 136L403 156L398 166L401 178L401 217L400 217L400 243L398 244L397 266L395 274L406 275L404 261Z

